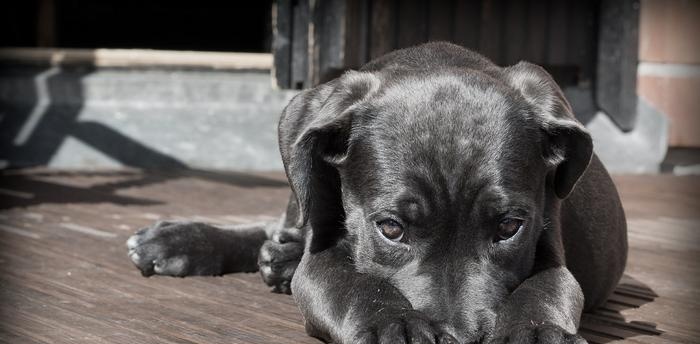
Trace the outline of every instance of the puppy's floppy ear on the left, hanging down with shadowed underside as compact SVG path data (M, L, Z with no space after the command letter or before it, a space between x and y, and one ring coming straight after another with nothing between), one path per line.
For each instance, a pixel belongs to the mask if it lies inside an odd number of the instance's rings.
M303 91L282 112L280 151L297 200L297 227L307 221L314 228L342 226L337 167L347 154L357 105L378 85L373 74L350 71Z

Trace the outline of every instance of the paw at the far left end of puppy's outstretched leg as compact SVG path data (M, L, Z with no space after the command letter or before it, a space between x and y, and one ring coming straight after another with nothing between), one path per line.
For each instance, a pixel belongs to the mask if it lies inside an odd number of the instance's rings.
M219 275L217 228L197 222L165 222L140 229L126 242L129 258L144 276Z

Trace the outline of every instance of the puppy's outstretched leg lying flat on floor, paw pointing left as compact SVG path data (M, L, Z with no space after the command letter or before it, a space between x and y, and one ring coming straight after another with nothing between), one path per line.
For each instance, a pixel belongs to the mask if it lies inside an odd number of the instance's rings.
M158 222L127 241L144 276L222 275L258 270L258 252L278 224L218 228L199 222Z

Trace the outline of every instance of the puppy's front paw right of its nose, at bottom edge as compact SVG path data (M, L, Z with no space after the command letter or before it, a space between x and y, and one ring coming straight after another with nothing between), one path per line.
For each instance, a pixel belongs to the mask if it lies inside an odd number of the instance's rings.
M566 332L552 324L526 325L506 328L488 344L587 344L583 337Z

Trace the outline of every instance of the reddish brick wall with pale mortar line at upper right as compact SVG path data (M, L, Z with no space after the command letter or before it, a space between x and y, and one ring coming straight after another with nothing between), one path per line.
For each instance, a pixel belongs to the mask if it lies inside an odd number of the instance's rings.
M700 147L700 0L642 0L637 92L670 119L669 145Z

